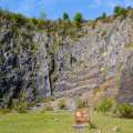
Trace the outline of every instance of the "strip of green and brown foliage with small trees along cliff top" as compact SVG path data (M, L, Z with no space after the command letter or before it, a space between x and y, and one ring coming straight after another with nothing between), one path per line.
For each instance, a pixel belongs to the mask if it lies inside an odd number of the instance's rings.
M102 22L112 22L116 19L116 17L124 16L132 13L132 8L122 8L115 7L114 14L112 17L106 17L103 13L101 17L96 18L94 21L83 20L82 14L75 13L74 21L69 19L69 14L66 12L63 13L63 19L58 20L47 20L47 19L37 19L37 18L27 18L20 13L12 13L7 10L0 9L0 19L8 20L11 23L16 24L16 27L27 27L28 29L37 29L41 31L45 31L52 35L60 35L60 37L76 37L79 32L82 32L82 27L84 24L91 23L90 27L94 28L98 21ZM82 21L81 21L82 20Z

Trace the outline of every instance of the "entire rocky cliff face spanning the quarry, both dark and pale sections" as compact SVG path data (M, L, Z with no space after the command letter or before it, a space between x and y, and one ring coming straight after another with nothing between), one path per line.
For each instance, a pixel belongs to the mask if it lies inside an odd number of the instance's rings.
M10 106L45 96L113 96L133 102L133 17L85 23L81 38L14 28L0 20L0 99Z

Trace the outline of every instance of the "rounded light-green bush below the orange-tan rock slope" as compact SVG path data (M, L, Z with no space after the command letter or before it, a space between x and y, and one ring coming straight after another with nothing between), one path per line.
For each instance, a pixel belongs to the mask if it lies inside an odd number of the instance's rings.
M111 111L112 106L113 106L112 100L105 99L98 105L96 110L105 114L106 112Z

